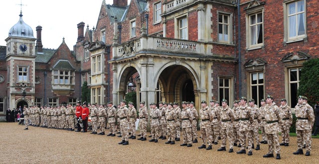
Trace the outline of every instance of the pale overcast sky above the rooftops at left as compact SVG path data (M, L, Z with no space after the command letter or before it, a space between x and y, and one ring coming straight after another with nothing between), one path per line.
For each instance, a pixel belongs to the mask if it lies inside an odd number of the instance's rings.
M103 0L0 0L0 46L6 46L9 29L22 19L33 29L42 26L43 48L57 49L65 38L70 50L78 37L77 24L85 23L84 30L96 27ZM105 0L113 4L113 0ZM22 3L22 6L20 5ZM81 11L81 12L80 12ZM84 31L85 32L85 31Z

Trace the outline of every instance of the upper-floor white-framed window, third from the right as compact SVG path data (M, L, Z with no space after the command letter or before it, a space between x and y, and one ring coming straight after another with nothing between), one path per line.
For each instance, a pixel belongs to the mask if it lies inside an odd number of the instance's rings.
M222 15L222 22L219 22L219 16ZM224 16L227 16L228 22L226 23L224 20ZM232 40L232 14L230 13L224 13L224 12L218 12L218 17L217 17L217 22L218 22L218 42L222 43L231 43ZM220 33L219 30L219 25L222 25L222 32ZM228 26L228 35L227 35L227 40L225 40L225 26ZM220 38L221 35L221 38Z

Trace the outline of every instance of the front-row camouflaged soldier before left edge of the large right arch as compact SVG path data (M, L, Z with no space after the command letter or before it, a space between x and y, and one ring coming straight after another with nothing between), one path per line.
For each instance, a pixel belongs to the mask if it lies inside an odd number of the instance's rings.
M160 113L160 110L156 107L156 104L154 102L150 104L150 108L151 108L150 117L152 118L151 120L152 139L149 141L158 142L159 136L160 136L159 126L160 126L161 113Z

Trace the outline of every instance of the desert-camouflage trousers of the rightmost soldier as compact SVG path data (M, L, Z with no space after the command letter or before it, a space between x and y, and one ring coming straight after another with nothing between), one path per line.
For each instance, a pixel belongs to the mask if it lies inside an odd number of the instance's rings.
M296 130L298 149L303 149L304 142L306 143L306 151L311 152L311 130Z

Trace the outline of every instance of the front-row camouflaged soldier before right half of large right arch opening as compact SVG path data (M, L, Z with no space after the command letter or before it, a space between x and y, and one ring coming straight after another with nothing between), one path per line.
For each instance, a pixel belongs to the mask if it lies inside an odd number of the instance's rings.
M191 122L193 121L193 115L190 110L187 109L187 102L183 101L181 103L182 109L180 112L181 119L181 130L183 133L183 143L180 146L191 147L192 143L192 131L191 131Z

